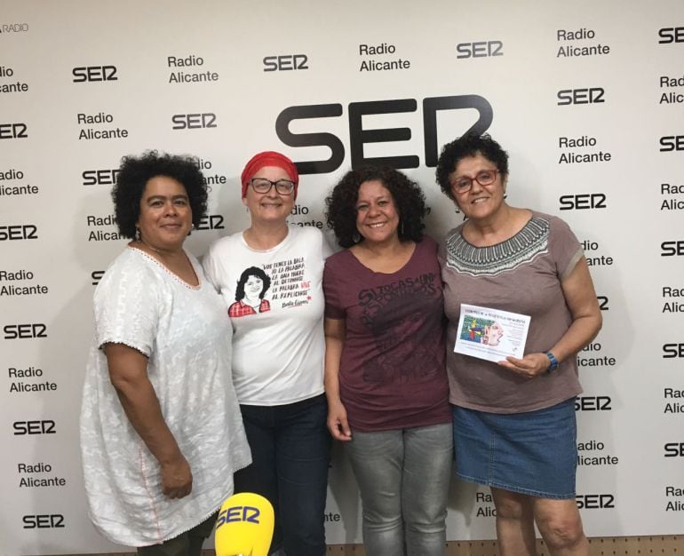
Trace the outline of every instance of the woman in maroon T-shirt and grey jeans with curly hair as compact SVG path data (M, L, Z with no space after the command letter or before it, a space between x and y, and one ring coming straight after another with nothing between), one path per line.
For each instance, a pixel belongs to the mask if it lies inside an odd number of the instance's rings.
M425 198L402 172L370 167L326 202L347 248L323 273L328 428L359 484L366 552L443 555L452 434Z

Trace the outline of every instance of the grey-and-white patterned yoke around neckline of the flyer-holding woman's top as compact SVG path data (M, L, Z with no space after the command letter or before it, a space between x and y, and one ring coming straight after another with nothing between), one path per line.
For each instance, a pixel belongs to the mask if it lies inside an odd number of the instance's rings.
M475 247L457 231L446 240L447 266L473 276L501 274L548 252L549 229L548 220L533 216L512 238L488 247Z

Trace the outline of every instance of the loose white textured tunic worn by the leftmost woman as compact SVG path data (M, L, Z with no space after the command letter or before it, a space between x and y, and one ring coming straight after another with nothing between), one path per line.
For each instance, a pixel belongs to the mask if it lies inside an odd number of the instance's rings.
M95 337L85 376L81 452L91 520L115 543L158 544L194 528L233 492L250 449L231 379L226 307L189 257L199 286L129 248L94 296ZM193 473L189 496L163 495L160 466L123 412L103 344L149 358L147 375Z

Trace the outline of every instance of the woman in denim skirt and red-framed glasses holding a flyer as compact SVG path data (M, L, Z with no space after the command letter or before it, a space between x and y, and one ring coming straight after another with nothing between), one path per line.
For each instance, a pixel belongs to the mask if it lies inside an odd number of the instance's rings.
M575 355L601 316L584 253L560 218L505 202L508 155L489 135L446 145L436 173L467 218L440 250L457 475L491 488L502 554L536 554L536 523L552 554L588 555Z

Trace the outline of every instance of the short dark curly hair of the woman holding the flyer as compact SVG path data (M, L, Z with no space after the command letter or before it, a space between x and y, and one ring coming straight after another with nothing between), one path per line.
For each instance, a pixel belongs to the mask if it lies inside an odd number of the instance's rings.
M449 174L456 170L461 159L478 154L497 166L501 179L508 176L508 153L501 148L501 145L491 139L489 133L482 135L467 133L442 147L440 158L437 161L437 170L434 172L442 193L447 195L449 199L454 199L454 195L451 193Z

